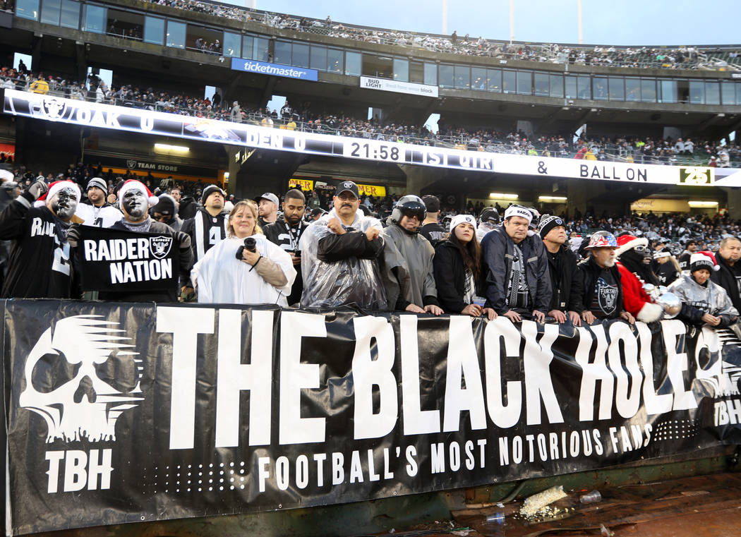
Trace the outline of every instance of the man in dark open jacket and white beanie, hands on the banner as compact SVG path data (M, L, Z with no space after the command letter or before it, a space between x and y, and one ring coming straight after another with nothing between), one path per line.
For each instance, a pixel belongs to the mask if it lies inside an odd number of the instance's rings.
M533 214L510 205L504 223L488 233L481 244L485 263L486 307L511 321L532 314L545 321L551 304L548 257L540 237L529 235Z

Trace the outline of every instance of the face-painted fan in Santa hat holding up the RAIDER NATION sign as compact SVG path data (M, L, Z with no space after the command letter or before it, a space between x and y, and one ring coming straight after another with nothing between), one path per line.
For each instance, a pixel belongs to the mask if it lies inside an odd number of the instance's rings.
M153 220L149 216L149 209L159 199L149 191L141 181L129 179L119 190L119 207L124 218L113 224L112 230L128 230L135 233L157 233L173 237L173 248L178 255L173 262L173 276L177 275L183 285L190 279L190 269L193 267L193 251L190 249L190 237L185 233L174 231L163 222ZM180 285L172 289L148 291L142 293L124 293L107 291L99 293L101 300L127 302L176 302L180 294Z

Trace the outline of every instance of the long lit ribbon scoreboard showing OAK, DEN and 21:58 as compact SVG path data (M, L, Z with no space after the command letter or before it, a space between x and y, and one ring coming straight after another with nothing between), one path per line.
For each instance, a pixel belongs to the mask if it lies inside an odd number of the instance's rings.
M713 184L710 167L674 167L625 162L582 161L447 147L428 147L393 141L301 133L216 119L116 107L62 97L4 90L4 113L46 121L213 141L270 150L335 156L345 159L417 164L453 170L508 173L567 179L628 183Z

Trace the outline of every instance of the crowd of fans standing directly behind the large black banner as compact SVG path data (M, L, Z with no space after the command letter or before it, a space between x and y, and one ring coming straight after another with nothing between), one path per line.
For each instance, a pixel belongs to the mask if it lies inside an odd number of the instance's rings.
M237 200L201 184L196 201L169 184L152 191L134 179L87 175L103 171L78 164L67 170L70 180L50 181L0 169L0 239L11 241L0 252L4 298L354 304L574 326L677 316L721 329L741 307L741 228L727 214L576 211L568 219L516 204L446 214L436 196L372 199L353 181L331 193L288 190L282 202L270 192ZM317 207L325 203L328 210ZM36 233L35 221L54 233ZM170 236L179 256L175 280L145 287L144 275L115 291L81 280L79 273L92 270L88 250L79 250L88 227ZM30 266L38 272L28 273Z

